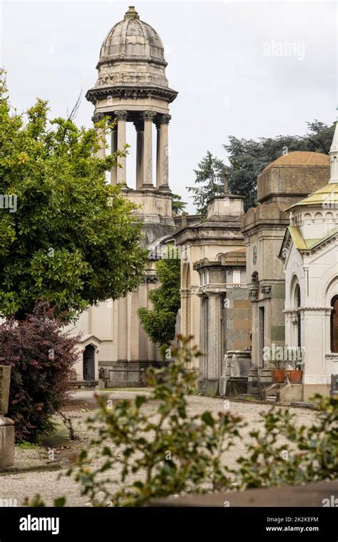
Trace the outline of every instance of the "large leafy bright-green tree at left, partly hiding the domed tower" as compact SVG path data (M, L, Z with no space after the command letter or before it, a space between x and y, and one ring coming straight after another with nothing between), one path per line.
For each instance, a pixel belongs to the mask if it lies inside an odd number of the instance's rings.
M96 130L106 134L105 120L85 129L47 114L42 100L25 118L11 114L0 75L0 314L16 319L38 301L71 318L124 296L146 261L135 206L106 184L127 149L99 158Z

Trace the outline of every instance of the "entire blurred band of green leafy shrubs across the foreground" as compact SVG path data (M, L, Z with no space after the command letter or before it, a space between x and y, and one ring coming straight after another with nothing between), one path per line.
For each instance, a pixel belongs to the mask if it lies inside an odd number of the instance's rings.
M338 476L338 400L316 396L316 422L299 426L295 414L271 408L250 432L246 453L230 468L223 454L245 441L241 418L222 411L190 416L187 398L195 375L195 349L180 338L175 361L150 371L149 396L116 401L98 396L91 418L91 452L82 451L73 473L94 506L143 506L150 498L178 493L262 488ZM156 416L147 406L156 401ZM247 440L247 438L246 438ZM95 458L93 466L91 460Z

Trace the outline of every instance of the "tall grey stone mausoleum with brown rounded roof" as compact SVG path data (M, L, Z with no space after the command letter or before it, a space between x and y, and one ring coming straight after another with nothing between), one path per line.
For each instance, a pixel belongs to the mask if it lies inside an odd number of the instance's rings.
M252 301L252 368L249 393L261 396L272 384L272 365L263 348L285 346L285 269L278 259L289 224L287 209L327 184L329 157L295 151L280 156L257 178L257 207L242 216Z

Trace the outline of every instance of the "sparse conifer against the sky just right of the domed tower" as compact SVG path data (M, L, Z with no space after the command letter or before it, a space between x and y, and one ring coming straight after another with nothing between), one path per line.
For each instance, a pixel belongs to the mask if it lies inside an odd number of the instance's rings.
M198 163L198 169L194 169L195 184L201 186L187 186L187 189L193 194L193 203L199 214L206 213L207 201L212 196L223 194L224 170L223 161L212 156L210 151L207 151L206 156Z

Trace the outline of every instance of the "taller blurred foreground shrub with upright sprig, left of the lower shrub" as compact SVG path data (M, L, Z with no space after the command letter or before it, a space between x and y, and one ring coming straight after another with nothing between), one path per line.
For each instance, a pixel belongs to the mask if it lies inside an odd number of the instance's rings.
M90 422L97 431L91 450L102 454L101 466L91 470L88 453L82 451L76 472L94 504L143 506L150 498L228 485L221 457L238 435L240 418L229 413L215 418L209 411L188 415L187 396L195 375L187 364L196 353L185 339L175 362L151 369L154 387L149 397L118 401L112 409L105 398L98 398L99 411ZM158 401L155 417L144 408L153 401ZM111 468L105 478L103 473Z

